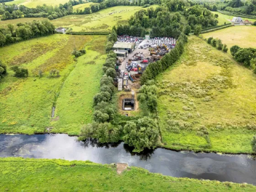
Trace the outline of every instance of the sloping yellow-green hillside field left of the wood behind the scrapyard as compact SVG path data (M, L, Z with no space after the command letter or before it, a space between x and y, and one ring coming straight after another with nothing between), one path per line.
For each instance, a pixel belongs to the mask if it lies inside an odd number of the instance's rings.
M157 5L152 6L156 7ZM75 32L110 32L114 25L126 24L130 16L140 9L146 8L139 6L116 6L88 15L64 16L51 22L56 27L69 27ZM109 15L110 13L113 14Z

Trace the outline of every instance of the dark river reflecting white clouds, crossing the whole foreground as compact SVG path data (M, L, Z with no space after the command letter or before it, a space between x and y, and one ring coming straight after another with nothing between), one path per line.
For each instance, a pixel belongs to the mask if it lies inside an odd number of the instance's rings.
M95 163L127 163L150 172L256 185L256 158L250 155L176 152L157 148L132 153L126 144L97 144L77 141L66 134L0 135L0 157L28 157L65 160L91 160Z

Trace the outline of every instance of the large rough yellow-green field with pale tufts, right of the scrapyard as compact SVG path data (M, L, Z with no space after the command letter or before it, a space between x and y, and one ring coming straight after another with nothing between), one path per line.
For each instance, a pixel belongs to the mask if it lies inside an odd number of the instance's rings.
M228 54L189 37L181 59L158 76L157 85L166 148L252 152L256 75Z

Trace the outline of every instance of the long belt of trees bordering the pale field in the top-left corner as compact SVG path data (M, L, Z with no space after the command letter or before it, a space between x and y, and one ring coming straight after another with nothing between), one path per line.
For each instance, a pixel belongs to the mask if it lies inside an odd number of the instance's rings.
M85 0L69 0L59 6L38 5L36 8L28 8L25 5L0 5L1 20L9 20L24 17L44 17L53 20L62 16L72 15L73 6L85 3Z

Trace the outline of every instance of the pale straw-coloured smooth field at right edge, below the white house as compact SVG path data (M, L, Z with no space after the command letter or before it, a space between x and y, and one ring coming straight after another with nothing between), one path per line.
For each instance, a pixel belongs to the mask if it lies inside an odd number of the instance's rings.
M241 48L256 48L256 26L235 26L203 34L203 38L219 38L229 48L238 45Z

